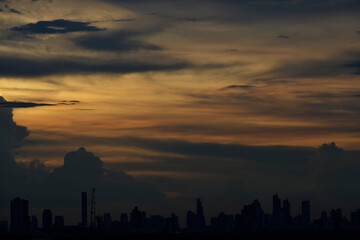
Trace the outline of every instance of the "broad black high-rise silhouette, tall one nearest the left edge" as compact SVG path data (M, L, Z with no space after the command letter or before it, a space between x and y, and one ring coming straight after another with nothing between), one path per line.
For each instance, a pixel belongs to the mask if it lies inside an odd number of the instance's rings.
M15 198L10 205L10 231L12 233L29 232L29 202L25 199Z

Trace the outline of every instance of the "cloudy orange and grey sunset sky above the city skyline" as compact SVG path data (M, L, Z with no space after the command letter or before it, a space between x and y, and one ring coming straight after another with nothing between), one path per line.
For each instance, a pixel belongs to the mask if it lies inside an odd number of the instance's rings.
M0 0L0 218L360 208L357 0ZM55 211L55 210L54 210ZM76 212L75 211L75 212ZM114 217L116 218L116 217Z

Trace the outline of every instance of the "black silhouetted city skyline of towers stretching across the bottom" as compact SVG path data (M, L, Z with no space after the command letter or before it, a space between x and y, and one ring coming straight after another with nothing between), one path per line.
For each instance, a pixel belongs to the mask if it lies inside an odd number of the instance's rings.
M220 212L217 216L206 216L200 199L196 199L196 207L187 210L185 224L180 224L179 217L172 212L169 216L148 215L138 206L130 212L117 214L95 213L95 189L88 199L86 192L81 192L79 198L79 222L76 225L66 224L65 217L53 215L51 209L42 211L41 220L36 215L30 216L29 202L14 198L11 201L10 222L0 219L1 234L89 234L95 233L241 233L241 232L328 232L328 231L359 231L360 209L345 216L341 208L322 211L319 216L311 216L311 203L301 202L297 215L292 215L291 201L281 199L277 194L272 196L272 210L267 213L261 203L255 199L251 204L244 205L239 213ZM84 219L91 203L89 219ZM85 211L85 212L84 212ZM210 221L209 221L210 220ZM89 224L85 224L88 222ZM41 225L40 225L41 223ZM86 230L88 229L88 230ZM86 231L85 231L86 230Z

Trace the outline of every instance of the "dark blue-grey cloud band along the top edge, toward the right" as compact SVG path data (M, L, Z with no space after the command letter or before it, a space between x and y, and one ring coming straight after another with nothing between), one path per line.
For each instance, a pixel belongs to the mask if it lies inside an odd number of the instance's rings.
M196 18L227 23L253 23L281 19L311 21L323 16L356 14L360 9L360 3L356 0L199 0L198 5L194 5L190 0L175 0L171 1L171 4L165 0L104 1L144 13L156 12L158 15L172 13L178 16L191 14ZM206 9L202 6L206 6Z

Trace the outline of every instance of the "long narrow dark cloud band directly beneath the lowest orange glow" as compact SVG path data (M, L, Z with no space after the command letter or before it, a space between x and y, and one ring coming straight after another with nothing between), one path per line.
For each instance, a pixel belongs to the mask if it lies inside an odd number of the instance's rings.
M128 146L156 152L191 157L211 157L217 159L247 159L255 162L284 163L291 159L291 164L303 163L315 152L313 148L288 146L247 146L239 144L192 143L171 139L146 139L136 137L97 137L86 139L74 137L74 141L86 141L88 144L107 146ZM27 142L31 144L30 141ZM48 142L50 144L50 142ZM36 141L32 144L41 144ZM54 144L59 144L54 142Z

